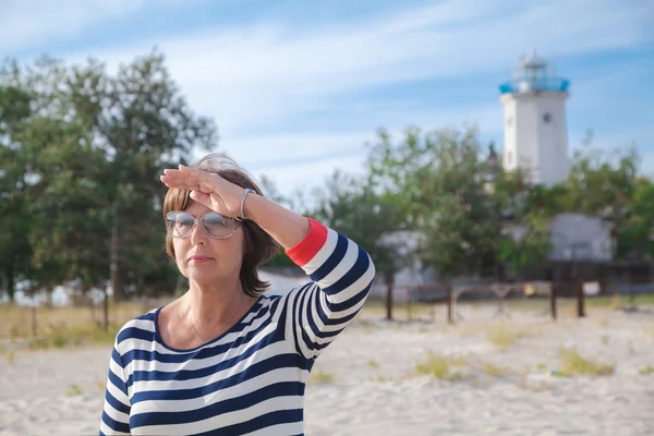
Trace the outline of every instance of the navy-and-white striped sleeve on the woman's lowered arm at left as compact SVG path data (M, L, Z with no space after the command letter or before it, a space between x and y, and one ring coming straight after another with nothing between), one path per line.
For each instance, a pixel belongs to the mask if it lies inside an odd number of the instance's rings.
M130 435L130 398L128 380L124 375L122 358L119 352L118 337L109 359L109 375L105 391L105 407L100 421L100 436Z

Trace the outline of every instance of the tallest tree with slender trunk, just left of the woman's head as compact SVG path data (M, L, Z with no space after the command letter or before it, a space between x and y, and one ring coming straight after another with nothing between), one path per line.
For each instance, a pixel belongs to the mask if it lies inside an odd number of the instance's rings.
M166 192L158 175L164 168L186 164L195 147L214 147L216 131L209 119L191 111L156 51L121 65L116 76L90 60L73 69L69 87L75 114L94 132L94 144L108 161L97 180L102 181L102 214L111 229L113 294L121 300L126 279L143 284L165 259L157 242L160 227L153 226L161 220Z

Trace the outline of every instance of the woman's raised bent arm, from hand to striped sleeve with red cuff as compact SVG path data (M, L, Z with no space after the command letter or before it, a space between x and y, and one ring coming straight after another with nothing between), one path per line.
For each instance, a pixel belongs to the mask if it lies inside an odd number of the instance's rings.
M217 174L180 166L165 170L169 187L191 190L191 198L226 216L240 216L244 189ZM375 277L370 255L343 234L263 196L249 194L247 219L287 251L311 282L284 296L286 331L298 352L315 359L359 313Z

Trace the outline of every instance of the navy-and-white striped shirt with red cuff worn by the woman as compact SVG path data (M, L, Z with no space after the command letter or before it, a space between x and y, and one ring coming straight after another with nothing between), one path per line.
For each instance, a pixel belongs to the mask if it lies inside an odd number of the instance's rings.
M164 343L161 307L126 323L109 360L100 435L303 434L311 368L361 310L375 267L361 246L315 220L287 254L307 283L259 295L201 347Z

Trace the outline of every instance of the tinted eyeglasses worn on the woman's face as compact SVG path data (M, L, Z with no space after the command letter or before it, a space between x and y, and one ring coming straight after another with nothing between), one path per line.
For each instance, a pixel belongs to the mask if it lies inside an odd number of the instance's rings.
M222 216L210 211L201 218L185 211L170 211L166 215L166 232L173 238L189 238L197 221L202 223L205 232L214 239L227 239L237 232L243 221L237 218Z

